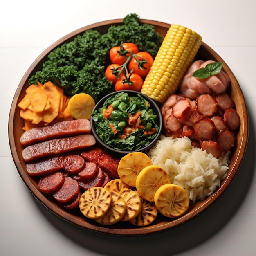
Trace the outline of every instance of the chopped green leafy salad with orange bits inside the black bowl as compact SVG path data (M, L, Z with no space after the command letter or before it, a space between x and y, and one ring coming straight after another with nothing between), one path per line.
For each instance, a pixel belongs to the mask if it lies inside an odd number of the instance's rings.
M101 140L117 150L139 150L157 136L157 115L141 95L126 92L110 96L92 112L92 121Z

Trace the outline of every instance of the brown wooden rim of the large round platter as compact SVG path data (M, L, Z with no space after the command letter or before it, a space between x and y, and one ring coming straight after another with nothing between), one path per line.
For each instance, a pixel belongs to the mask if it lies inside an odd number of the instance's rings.
M70 38L74 38L78 34L83 33L85 30L88 29L97 29L99 27L109 27L110 25L117 25L119 23L122 23L123 19L114 19L114 20L106 20L102 22L97 22L91 25L87 25L85 27L81 27L80 29L76 29L75 31L72 31L71 33L63 36L59 40L57 40L55 43L47 47L45 51L43 51L37 58L36 60L30 65L28 68L27 72L24 74L22 77L18 88L15 92L15 95L13 97L13 101L11 104L11 109L9 112L9 126L8 126L8 132L9 132L9 144L11 148L11 155L13 157L14 164L18 170L18 173L20 174L20 177L22 178L23 182L25 182L26 186L28 187L29 191L41 202L47 209L55 213L57 216L67 220L68 222L77 225L79 227L91 230L91 231L96 231L100 233L105 233L105 234L112 234L112 235L124 235L124 236L136 236L136 235L145 235L145 234L152 234L156 233L159 231L164 231L167 229L171 229L174 227L178 227L180 225L185 224L189 220L195 218L196 216L200 215L203 211L208 209L216 200L222 195L222 193L227 189L231 181L233 180L234 176L236 175L240 164L243 161L243 157L245 154L246 146L247 146L247 139L248 139L248 115L247 115L247 107L245 104L245 99L242 93L242 90L240 88L240 85L238 84L234 74L231 72L229 69L228 65L225 63L225 61L215 52L213 49L211 49L206 43L202 42L202 47L204 47L208 52L211 52L211 54L215 57L218 58L219 61L222 61L223 63L223 69L229 73L229 76L231 78L231 83L235 85L234 90L236 91L235 93L239 95L239 99L241 102L241 107L240 112L242 113L241 117L241 128L240 128L240 141L241 143L237 145L236 152L233 155L233 158L235 157L235 160L232 162L231 170L228 173L227 177L225 180L223 180L220 188L218 188L212 195L209 195L207 199L204 201L201 201L199 203L199 206L191 211L186 213L184 216L177 218L177 219L164 219L161 221L159 224L154 223L150 226L146 227L134 227L134 228L118 228L115 225L108 227L108 226L101 226L97 224L96 222L90 222L87 221L87 219L81 217L78 218L64 209L61 209L58 207L57 204L54 204L52 201L49 201L45 196L38 191L38 189L34 186L34 184L31 182L31 177L29 177L24 170L19 156L18 152L15 146L15 140L18 140L15 138L14 133L15 133L15 120L13 118L17 102L18 102L18 97L20 93L22 92L23 87L25 86L25 83L27 82L29 76L31 75L31 72L36 68L38 63L42 61L42 59L49 53L51 52L54 48L56 48L58 45L64 43L67 40L70 40ZM156 27L162 27L164 29L168 29L171 24L165 23L165 22L160 22L160 21L155 21L155 20L148 20L148 19L140 19L140 22L142 23L148 23L155 25Z

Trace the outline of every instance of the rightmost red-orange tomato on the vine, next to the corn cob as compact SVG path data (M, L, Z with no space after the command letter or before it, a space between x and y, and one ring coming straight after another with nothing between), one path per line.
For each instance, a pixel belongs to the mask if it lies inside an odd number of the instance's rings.
M128 69L141 77L146 77L153 64L153 57L148 52L138 52L129 62Z

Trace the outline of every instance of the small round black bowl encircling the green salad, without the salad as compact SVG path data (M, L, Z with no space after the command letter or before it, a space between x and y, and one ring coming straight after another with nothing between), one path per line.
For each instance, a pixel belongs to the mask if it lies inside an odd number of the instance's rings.
M145 94L142 94L141 92L135 92L135 91L132 91L132 90L124 90L123 92L126 92L128 94L128 96L130 96L130 97L134 97L134 96L136 97L138 94L141 95L141 97L143 97L144 99L146 99L146 101L148 101L150 103L150 108L152 108L153 112L157 115L157 124L159 126L159 130L157 132L156 137L148 145L146 145L144 147L141 147L138 150L132 150L132 152L140 151L140 152L147 153L150 150L150 148L152 148L155 145L155 143L158 141L158 139L160 138L161 132L162 132L163 122L162 122L162 114L161 114L160 108L159 108L156 101L149 98ZM113 96L117 93L120 93L120 91L111 92L110 94L107 94L105 97L103 97L101 100L99 100L96 103L93 111L98 110L99 108L101 108L103 106L103 103L109 97L111 97L111 96ZM99 145L101 145L101 147L105 148L107 151L112 153L113 155L126 155L126 154L131 152L131 150L130 151L128 151L128 150L118 150L118 149L112 148L111 146L106 145L96 132L95 122L94 122L92 116L91 116L91 126L92 126L92 133L93 133L97 143Z

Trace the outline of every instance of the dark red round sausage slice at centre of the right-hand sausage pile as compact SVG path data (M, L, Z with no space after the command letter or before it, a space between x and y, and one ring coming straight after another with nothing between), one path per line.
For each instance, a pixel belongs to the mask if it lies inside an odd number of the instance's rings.
M194 125L195 136L198 140L214 140L216 127L214 122L209 118L199 120Z

